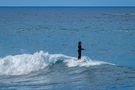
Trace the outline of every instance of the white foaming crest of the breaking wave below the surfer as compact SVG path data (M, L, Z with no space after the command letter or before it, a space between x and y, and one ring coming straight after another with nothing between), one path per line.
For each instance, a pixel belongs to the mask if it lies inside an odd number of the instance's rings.
M33 71L44 69L46 66L55 64L58 60L63 60L68 67L93 66L108 64L102 61L92 61L83 57L77 60L75 57L63 54L49 54L47 52L35 52L34 54L9 55L0 58L0 75L23 75Z

